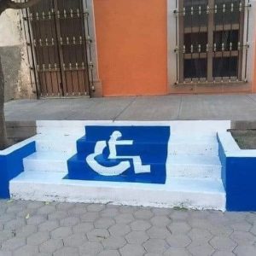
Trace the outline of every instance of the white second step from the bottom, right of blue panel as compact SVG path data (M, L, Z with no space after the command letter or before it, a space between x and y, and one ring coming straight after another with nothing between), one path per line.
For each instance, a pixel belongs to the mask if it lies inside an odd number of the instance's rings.
M171 177L221 178L218 156L173 154L168 156L166 169Z

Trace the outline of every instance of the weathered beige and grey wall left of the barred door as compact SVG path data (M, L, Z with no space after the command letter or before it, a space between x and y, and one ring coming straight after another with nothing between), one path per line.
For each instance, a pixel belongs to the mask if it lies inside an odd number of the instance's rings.
M5 101L34 97L19 11L8 9L1 15L0 35Z

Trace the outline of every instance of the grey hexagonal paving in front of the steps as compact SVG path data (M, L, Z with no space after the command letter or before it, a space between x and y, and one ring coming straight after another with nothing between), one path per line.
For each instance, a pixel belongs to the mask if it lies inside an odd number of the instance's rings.
M256 213L0 201L0 255L256 255Z

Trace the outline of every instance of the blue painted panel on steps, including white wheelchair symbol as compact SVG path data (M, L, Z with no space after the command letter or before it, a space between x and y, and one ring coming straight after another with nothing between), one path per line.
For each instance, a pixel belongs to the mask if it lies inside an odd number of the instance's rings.
M166 183L169 126L86 126L85 129L86 137L77 142L78 154L67 161L67 178Z

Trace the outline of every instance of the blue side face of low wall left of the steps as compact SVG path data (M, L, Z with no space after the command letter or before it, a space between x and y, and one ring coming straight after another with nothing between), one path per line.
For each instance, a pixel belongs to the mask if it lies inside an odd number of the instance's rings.
M0 198L9 198L9 181L23 172L23 159L36 151L35 143L28 143L15 151L0 154Z

